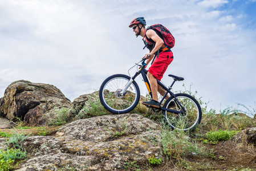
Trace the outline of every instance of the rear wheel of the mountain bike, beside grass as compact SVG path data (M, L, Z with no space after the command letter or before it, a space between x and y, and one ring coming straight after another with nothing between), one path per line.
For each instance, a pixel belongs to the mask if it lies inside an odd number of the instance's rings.
M194 97L185 93L178 93L164 103L165 121L172 129L193 131L201 122L202 110Z

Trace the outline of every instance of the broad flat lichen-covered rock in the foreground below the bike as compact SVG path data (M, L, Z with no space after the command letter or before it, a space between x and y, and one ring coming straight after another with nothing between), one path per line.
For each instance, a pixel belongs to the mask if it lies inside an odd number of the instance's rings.
M115 170L125 162L147 164L162 157L161 125L136 114L105 115L64 125L56 136L32 136L23 141L30 158L18 170Z

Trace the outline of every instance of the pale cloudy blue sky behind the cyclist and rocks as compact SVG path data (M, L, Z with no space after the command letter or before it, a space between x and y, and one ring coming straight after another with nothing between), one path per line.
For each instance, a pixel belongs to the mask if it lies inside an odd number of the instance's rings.
M176 38L162 82L184 77L174 90L192 85L217 110L255 108L255 9L255 0L0 1L0 96L24 79L53 84L74 100L109 75L128 74L147 52L128 25L144 17Z

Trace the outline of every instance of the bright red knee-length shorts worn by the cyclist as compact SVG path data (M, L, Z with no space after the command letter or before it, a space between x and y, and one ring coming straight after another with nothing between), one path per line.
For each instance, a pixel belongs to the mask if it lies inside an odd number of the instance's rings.
M167 67L170 63L172 63L173 60L173 54L172 51L170 52L161 52L159 54L159 58L155 58L155 61L153 62L152 66L149 67L148 71L155 76L156 79L160 80L162 79L162 76L164 75L165 71L167 70Z

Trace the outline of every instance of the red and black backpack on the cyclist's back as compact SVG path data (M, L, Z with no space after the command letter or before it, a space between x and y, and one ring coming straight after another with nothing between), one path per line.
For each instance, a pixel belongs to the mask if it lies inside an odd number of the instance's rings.
M146 31L148 29L153 29L156 31L157 35L160 36L160 38L162 40L164 40L164 43L166 46L168 46L169 48L173 48L174 47L174 44L175 44L175 39L173 37L173 35L170 33L170 31L165 27L165 26L162 26L161 24L156 24L156 25L152 25L152 26L149 26L146 30L145 30L145 41L150 44L150 45L153 45L155 43L152 43L150 42L148 39L147 39L147 36L146 36Z

